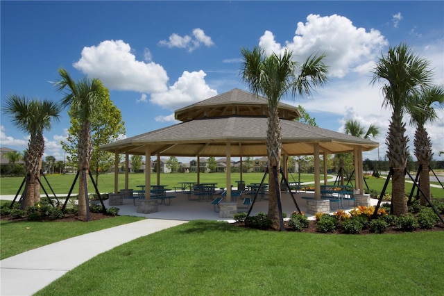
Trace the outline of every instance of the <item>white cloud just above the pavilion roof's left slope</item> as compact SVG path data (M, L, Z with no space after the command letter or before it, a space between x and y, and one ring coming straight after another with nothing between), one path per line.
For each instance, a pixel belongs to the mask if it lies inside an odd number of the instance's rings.
M205 83L205 76L206 74L202 70L199 72L184 71L168 91L151 94L150 101L164 108L175 110L213 97L217 92Z

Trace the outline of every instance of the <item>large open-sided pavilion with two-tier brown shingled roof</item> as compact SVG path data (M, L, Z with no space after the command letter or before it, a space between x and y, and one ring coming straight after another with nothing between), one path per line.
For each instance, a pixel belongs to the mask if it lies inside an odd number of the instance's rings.
M362 152L375 149L379 143L296 122L300 117L299 110L289 104L280 103L279 115L284 172L287 172L289 156L313 155L314 167L317 168L314 170L314 198L321 200L320 155L352 152L355 157L355 192L360 195L364 193ZM176 120L181 121L178 124L103 145L101 149L115 154L114 191L118 191L119 154L126 155L126 167L129 155L145 156L146 188L151 186L151 156L157 156L157 159L161 156L191 156L197 157L198 163L200 157L225 157L226 199L230 202L230 158L267 155L267 116L266 98L235 88L176 110ZM160 175L157 174L157 183L159 181ZM326 174L324 182L327 182ZM128 189L128 172L125 176L125 187ZM149 195L146 195L146 198L149 198Z

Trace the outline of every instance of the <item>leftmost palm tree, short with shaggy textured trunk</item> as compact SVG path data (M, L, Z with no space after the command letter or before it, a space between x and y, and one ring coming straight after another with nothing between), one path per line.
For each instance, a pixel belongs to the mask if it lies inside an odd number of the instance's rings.
M53 101L26 99L12 94L3 110L12 117L18 129L30 135L24 156L28 176L23 202L23 208L26 209L40 202L40 186L36 178L40 176L40 161L44 152L43 131L51 129L51 121L59 120L61 108Z

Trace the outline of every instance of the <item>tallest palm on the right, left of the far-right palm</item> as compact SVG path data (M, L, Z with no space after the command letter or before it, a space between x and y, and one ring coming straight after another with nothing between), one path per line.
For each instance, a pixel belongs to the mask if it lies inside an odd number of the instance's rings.
M372 83L385 80L382 86L383 107L391 108L392 115L386 145L388 163L393 170L392 206L394 215L407 215L405 197L405 169L407 165L407 142L402 116L411 104L409 97L427 87L432 78L427 60L414 55L406 44L390 47L386 56L379 58L373 69Z

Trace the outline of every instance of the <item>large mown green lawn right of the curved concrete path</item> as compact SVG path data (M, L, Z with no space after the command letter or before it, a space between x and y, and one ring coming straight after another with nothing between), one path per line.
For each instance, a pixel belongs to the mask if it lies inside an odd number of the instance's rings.
M443 239L195 220L100 254L35 295L442 295Z

